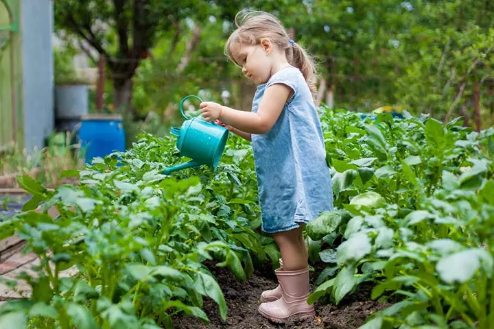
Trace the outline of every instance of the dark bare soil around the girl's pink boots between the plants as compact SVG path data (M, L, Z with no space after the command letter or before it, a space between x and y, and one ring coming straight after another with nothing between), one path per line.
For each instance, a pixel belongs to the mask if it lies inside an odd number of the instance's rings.
M261 292L273 289L277 282L272 275L264 275L257 271L251 278L242 282L237 280L228 269L215 267L207 264L211 273L224 293L228 314L226 321L220 317L217 304L205 297L202 308L211 320L210 324L204 324L195 317L176 317L174 325L177 329L217 329L217 328L239 328L239 329L354 329L362 326L366 318L389 304L380 304L371 300L372 286L361 285L355 293L347 296L338 306L333 304L322 304L316 302L316 317L305 321L292 321L287 324L273 324L257 313L257 306ZM316 273L318 273L316 267ZM312 289L315 289L314 281L317 274L311 272Z

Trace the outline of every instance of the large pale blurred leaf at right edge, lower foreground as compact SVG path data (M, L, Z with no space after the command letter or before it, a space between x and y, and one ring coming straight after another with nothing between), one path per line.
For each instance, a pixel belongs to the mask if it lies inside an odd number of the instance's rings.
M462 250L441 258L436 264L436 271L438 271L440 278L449 284L464 283L470 280L478 270L481 261L492 269L493 258L484 249Z

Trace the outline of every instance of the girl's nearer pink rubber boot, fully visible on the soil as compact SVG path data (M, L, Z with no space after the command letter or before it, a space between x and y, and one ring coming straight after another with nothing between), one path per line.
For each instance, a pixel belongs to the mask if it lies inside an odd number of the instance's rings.
M281 298L259 305L259 313L273 322L283 323L290 317L314 317L314 306L307 304L309 297L309 268L298 271L274 271L281 287Z

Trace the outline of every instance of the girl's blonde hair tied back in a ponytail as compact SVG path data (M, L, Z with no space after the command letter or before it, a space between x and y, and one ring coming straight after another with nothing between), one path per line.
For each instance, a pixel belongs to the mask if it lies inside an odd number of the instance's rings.
M235 16L235 31L226 41L225 55L233 57L233 47L239 44L259 45L262 38L268 38L279 49L285 50L290 65L298 67L312 93L316 93L316 64L298 43L292 42L283 24L272 14L255 10L242 10Z

